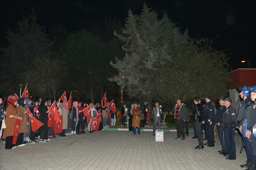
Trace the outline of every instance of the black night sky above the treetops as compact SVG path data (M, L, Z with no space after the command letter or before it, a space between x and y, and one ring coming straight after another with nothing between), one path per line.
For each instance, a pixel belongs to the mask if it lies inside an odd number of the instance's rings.
M139 14L143 2L156 10L160 16L166 12L181 32L188 28L191 38L215 38L214 48L228 49L232 70L256 68L256 1L193 1L193 0L44 0L44 1L0 1L0 43L6 46L4 34L10 28L14 31L17 20L36 8L38 23L46 26L46 32L59 22L75 31L88 28L92 22L106 16L116 16L124 23L128 10Z

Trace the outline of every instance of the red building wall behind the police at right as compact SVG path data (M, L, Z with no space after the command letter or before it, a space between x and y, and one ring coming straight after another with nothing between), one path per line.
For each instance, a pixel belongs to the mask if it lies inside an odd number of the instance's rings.
M256 69L236 69L232 72L233 83L229 85L228 90L241 85L256 85ZM232 78L231 78L232 79Z

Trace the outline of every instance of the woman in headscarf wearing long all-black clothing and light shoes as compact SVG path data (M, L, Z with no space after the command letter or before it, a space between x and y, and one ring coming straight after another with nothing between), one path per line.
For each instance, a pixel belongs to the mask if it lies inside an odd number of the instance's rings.
M48 115L47 113L49 112L48 107L47 107L47 101L42 100L41 105L39 106L39 121L44 123L43 126L39 128L39 135L40 138L38 142L48 142L48 140L45 140L47 138L47 133L48 133Z

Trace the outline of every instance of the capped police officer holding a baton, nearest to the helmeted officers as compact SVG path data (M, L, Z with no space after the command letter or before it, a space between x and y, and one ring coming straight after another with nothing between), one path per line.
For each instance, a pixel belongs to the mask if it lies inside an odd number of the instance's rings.
M235 145L235 130L237 123L237 114L236 109L231 106L232 100L230 98L226 98L224 100L224 106L226 106L226 110L223 113L222 116L222 124L224 127L224 145L226 153L223 155L224 157L228 157L226 159L228 160L236 160L236 145ZM230 137L231 134L231 137ZM230 149L230 143L231 143L231 149Z

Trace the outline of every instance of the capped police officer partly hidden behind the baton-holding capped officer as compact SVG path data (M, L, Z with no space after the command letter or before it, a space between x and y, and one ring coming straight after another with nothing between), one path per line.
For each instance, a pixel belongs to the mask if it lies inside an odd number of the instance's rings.
M217 129L218 129L218 134L219 134L219 138L220 138L220 144L222 146L222 149L220 151L218 151L219 153L224 152L224 145L223 145L223 126L222 126L222 115L226 109L226 106L224 106L224 100L226 99L226 97L221 97L219 99L219 103L220 103L220 107L218 108L216 115L214 117L214 121L215 124L217 125Z

